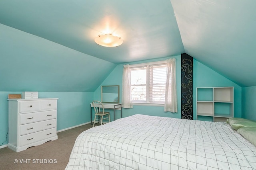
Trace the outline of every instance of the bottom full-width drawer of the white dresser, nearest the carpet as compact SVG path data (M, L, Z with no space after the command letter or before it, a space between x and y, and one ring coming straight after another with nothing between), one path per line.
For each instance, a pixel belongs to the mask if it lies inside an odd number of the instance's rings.
M19 137L19 147L56 136L56 127Z

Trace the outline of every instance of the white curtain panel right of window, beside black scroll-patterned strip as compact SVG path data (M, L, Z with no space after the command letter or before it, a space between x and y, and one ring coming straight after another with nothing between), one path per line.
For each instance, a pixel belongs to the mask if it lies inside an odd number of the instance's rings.
M178 112L176 90L176 59L167 59L164 111Z

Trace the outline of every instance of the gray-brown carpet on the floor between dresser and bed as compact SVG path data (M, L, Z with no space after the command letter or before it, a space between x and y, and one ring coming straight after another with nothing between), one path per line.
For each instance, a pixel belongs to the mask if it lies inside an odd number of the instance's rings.
M57 133L58 139L21 152L0 149L1 170L64 170L76 137L92 125L87 124ZM14 163L18 160L18 163Z

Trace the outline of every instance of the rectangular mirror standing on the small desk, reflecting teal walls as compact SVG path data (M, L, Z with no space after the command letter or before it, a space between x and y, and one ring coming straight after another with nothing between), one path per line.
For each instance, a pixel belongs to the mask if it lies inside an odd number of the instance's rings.
M119 103L119 85L101 86L101 102Z

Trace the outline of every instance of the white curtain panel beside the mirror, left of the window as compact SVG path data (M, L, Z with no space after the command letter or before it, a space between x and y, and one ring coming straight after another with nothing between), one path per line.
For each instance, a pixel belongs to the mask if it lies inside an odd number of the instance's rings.
M132 108L131 76L129 64L124 65L122 80L122 107Z

